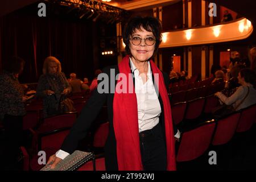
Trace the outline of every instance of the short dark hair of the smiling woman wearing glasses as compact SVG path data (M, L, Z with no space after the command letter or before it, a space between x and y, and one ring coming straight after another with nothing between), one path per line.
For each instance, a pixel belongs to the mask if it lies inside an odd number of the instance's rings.
M154 55L158 51L159 44L162 42L162 23L159 19L153 18L151 16L135 16L129 20L125 26L125 31L123 31L123 43L125 43L126 52L130 55L130 36L135 32L136 29L141 30L144 28L148 32L152 32L155 36L155 50Z

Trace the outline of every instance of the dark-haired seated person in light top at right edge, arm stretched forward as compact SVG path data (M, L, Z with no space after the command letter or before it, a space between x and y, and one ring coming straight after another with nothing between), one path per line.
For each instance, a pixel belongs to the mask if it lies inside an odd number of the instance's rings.
M232 96L226 97L221 92L217 92L215 96L220 98L224 104L233 105L234 108L239 105L236 110L256 104L256 90L254 88L256 80L255 73L251 71L251 69L245 68L238 73L237 78L238 83L241 84L241 86L234 94L232 94ZM244 98L245 100L243 100ZM241 103L242 100L243 102Z

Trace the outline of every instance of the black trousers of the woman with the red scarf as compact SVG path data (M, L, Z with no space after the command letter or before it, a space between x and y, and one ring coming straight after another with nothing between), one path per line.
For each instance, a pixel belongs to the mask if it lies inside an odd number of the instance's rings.
M166 171L166 142L160 123L151 130L139 133L144 171Z

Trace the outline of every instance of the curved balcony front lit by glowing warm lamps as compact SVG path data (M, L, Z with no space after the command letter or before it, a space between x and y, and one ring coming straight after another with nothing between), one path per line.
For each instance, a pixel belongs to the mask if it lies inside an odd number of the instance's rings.
M250 20L241 18L212 26L163 33L160 48L229 42L248 38L253 32Z

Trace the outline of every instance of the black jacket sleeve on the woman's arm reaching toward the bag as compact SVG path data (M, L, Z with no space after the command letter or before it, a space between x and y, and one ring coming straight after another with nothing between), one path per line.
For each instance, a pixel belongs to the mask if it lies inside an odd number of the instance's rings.
M106 69L104 69L103 73L106 72ZM104 79L102 79L102 81L104 81ZM98 84L102 81L98 81ZM79 117L76 119L70 133L65 138L61 150L68 152L69 154L72 154L72 152L76 150L79 141L86 136L92 122L97 117L98 113L100 113L101 107L105 104L107 95L108 93L99 93L98 88L93 90L92 96L82 109Z

